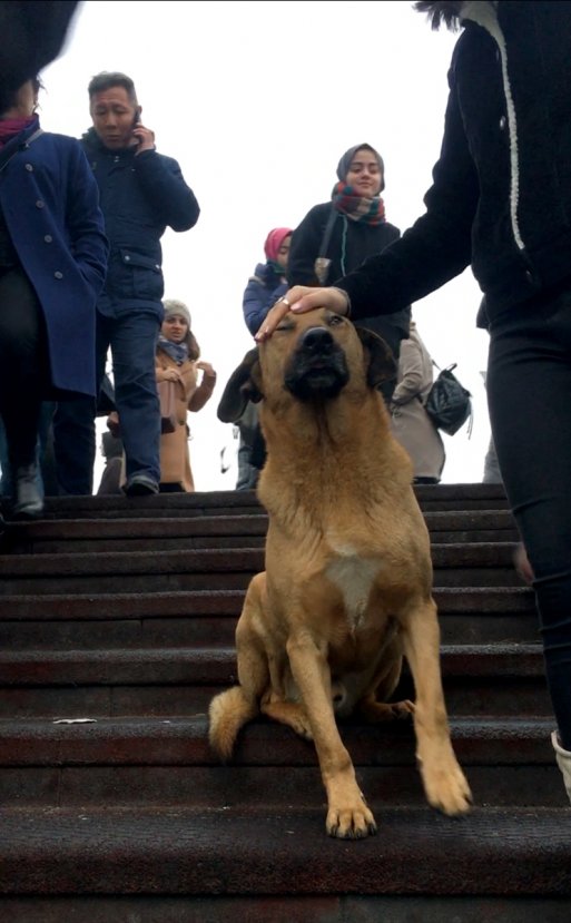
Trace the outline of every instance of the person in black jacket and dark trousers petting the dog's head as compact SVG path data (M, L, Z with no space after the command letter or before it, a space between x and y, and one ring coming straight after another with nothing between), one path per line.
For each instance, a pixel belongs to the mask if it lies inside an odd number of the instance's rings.
M571 2L417 2L463 31L426 213L385 254L292 305L360 318L467 265L485 295L486 392L511 509L534 575L552 743L571 797Z

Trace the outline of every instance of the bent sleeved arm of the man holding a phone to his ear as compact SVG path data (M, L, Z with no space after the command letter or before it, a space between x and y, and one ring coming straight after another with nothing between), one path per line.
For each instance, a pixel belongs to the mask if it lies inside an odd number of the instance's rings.
M195 226L200 208L176 160L156 150L142 150L134 158L134 169L157 220L173 230Z

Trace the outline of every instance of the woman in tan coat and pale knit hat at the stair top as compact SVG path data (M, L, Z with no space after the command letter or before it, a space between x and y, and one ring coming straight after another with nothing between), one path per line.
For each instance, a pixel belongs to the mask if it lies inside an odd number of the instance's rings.
M199 361L200 350L190 330L190 312L179 301L165 301L165 317L157 344L155 372L157 383L177 384L177 426L160 436L160 490L193 492L195 483L188 451L188 411L198 411L210 399L216 372ZM198 383L201 372L200 383Z

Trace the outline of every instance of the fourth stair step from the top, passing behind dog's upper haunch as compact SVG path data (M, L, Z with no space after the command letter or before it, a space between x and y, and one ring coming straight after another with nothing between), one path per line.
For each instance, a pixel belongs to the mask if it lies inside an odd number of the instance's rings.
M443 644L533 642L534 595L524 587L436 588ZM0 598L0 648L234 645L244 591Z

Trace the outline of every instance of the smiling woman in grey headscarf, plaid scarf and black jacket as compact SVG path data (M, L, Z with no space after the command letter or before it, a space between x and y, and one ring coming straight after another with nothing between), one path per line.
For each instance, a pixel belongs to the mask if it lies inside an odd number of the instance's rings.
M375 148L361 144L345 151L331 202L314 205L294 232L287 264L289 285L325 285L398 239L401 232L385 218L384 188L385 166ZM398 360L410 321L408 306L380 317L372 303L358 325L382 336ZM381 387L387 402L395 382Z

